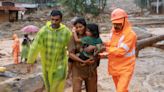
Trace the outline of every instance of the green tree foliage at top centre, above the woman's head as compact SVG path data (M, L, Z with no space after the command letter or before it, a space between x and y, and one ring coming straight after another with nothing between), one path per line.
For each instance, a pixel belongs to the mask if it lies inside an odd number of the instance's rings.
M106 0L58 0L58 2L75 14L98 15L106 6Z

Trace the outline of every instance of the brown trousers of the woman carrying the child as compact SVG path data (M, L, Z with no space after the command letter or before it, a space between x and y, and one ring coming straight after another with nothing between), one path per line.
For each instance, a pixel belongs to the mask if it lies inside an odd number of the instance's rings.
M81 92L82 82L85 83L86 92L97 92L97 69L91 66L76 66L73 63L72 80L73 92Z

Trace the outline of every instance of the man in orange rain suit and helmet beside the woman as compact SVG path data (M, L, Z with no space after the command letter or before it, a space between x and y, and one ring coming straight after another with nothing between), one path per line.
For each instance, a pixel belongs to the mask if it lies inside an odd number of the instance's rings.
M128 21L127 13L120 8L111 14L112 29L105 43L108 52L108 71L112 75L116 92L128 92L134 67L136 34Z

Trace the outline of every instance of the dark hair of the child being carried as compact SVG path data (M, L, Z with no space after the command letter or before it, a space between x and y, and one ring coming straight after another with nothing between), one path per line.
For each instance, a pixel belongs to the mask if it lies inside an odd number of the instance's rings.
M87 24L88 31L90 31L93 34L93 37L98 38L99 37L99 27L97 24L91 23Z

